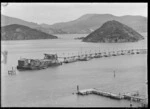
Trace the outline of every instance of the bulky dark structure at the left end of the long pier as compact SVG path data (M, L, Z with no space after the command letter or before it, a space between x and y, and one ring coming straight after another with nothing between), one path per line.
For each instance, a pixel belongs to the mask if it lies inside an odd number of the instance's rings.
M18 70L40 70L46 69L51 66L62 65L58 61L57 54L44 54L44 59L26 59L21 58L18 60Z

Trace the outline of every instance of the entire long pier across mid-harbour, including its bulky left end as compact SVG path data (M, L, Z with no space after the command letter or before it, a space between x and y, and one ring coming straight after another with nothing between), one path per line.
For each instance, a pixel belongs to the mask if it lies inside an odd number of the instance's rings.
M45 69L51 66L62 65L62 63L72 63L77 61L89 61L93 58L111 57L120 55L132 55L132 54L146 54L147 49L130 49L130 50L119 50L119 51L108 51L108 52L95 52L85 53L68 57L58 57L57 54L44 54L44 59L20 59L18 60L18 70L39 70ZM58 58L63 58L63 62L59 62Z

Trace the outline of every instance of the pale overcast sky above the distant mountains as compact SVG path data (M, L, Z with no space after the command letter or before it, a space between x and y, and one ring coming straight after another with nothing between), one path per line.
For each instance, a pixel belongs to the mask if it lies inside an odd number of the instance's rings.
M147 8L147 3L8 3L1 7L1 14L38 24L54 24L89 13L147 17Z

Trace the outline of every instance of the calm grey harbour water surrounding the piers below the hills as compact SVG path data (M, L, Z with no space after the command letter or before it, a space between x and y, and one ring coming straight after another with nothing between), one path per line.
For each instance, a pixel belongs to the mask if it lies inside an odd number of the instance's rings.
M44 70L8 70L21 58L43 58L43 53L72 56L97 51L147 49L147 40L135 43L85 43L74 40L85 34L57 35L53 40L1 41L8 51L7 63L1 64L1 102L4 107L129 107L130 101L96 95L78 96L80 89L99 88L112 93L139 91L147 97L147 54L124 55L63 64ZM145 38L147 36L145 35ZM60 59L61 61L61 59ZM115 78L113 71L115 70ZM140 103L133 102L134 107Z

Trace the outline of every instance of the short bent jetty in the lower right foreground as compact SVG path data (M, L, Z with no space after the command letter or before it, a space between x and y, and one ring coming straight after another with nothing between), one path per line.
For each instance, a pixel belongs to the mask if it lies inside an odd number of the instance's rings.
M140 101L143 101L143 100L146 99L146 98L139 97L138 95L132 95L132 94L129 94L129 93L123 94L123 95L121 95L120 93L119 94L114 94L114 93L111 93L111 92L104 92L104 91L98 90L96 88L84 89L84 90L79 90L79 88L77 88L77 93L76 94L78 94L78 95L95 94L95 95L109 97L109 98L116 99L116 100L125 99L125 100L130 100L130 101L132 100L132 101L136 101L136 102L140 102Z

